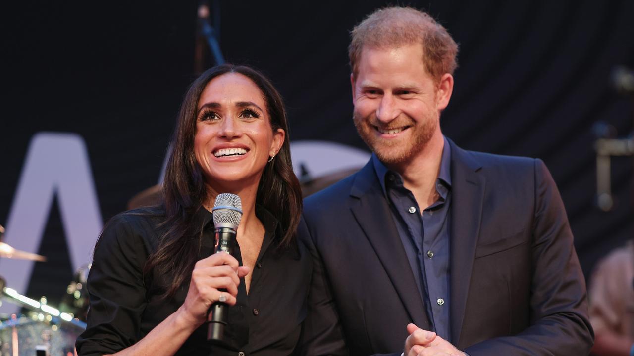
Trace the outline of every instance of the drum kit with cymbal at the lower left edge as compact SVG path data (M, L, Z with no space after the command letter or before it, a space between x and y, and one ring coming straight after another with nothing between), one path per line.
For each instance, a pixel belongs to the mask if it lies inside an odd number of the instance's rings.
M46 261L42 255L16 250L2 242L3 235L4 227L0 225L0 258ZM0 277L3 302L22 308L20 315L0 316L0 356L77 355L75 340L86 329L88 270L89 265L77 270L60 308L48 305L44 296L35 300L21 295Z

